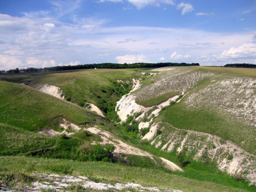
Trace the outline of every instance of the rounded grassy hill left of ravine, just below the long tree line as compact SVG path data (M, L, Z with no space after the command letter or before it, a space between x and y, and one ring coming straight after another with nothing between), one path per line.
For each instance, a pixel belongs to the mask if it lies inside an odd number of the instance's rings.
M119 99L120 96L111 91L114 86L110 80L131 81L131 78L141 77L142 74L134 69L83 69L36 76L20 82L55 85L63 90L66 98L71 98L71 102L78 103L86 99L87 102L97 105L100 98L112 102Z

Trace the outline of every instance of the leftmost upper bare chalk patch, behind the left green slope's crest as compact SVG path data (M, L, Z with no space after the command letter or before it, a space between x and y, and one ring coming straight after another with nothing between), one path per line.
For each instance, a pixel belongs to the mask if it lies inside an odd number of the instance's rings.
M38 84L34 87L35 89L38 89L39 91L42 91L44 93L47 93L49 95L52 95L54 97L57 97L59 99L64 99L64 95L60 87L56 87L54 85L49 84Z

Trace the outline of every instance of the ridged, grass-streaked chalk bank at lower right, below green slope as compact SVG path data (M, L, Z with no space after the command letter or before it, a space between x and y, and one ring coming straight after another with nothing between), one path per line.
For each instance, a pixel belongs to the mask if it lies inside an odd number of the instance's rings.
M172 131L164 132L157 136L151 144L161 150L181 153L186 149L186 154L195 160L211 159L216 162L219 170L230 175L245 178L256 184L256 156L249 154L241 147L230 141L208 133L177 129L167 123L160 123L159 127L168 127ZM163 129L164 130L164 129ZM156 146L161 140L161 145Z

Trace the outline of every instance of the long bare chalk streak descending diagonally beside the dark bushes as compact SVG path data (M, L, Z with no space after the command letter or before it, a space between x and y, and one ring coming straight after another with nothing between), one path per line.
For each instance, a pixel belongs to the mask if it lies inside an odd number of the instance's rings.
M99 143L112 144L115 147L115 150L114 150L115 153L146 156L146 157L151 158L154 162L155 162L154 158L158 158L158 157L151 155L150 153L147 153L146 151L142 151L136 147L133 147L131 145L128 145L127 143L124 143L122 140L114 137L110 132L104 131L97 126L89 127L89 128L86 128L85 130L87 130L91 133L94 133L95 135L99 135L102 139L102 142L99 142ZM181 171L182 170L175 163L169 163L169 161L164 158L160 158L160 159L162 160L163 166L166 167L167 169L171 169L173 171Z

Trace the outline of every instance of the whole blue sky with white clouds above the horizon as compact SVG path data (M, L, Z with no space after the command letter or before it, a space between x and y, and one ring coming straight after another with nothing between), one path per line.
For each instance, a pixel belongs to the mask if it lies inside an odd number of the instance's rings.
M0 0L0 70L256 64L256 0Z

